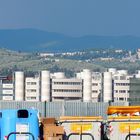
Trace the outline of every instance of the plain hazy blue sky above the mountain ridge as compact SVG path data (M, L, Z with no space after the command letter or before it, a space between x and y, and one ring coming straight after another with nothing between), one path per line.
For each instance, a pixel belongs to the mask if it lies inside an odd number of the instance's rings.
M0 0L0 29L140 36L140 0Z

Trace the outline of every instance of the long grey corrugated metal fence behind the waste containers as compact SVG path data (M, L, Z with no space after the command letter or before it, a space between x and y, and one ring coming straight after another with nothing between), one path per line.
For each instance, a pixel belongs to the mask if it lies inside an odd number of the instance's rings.
M126 106L128 102L115 102L110 105ZM17 102L1 101L0 109L38 109L41 117L60 116L102 116L106 118L108 103L86 103L86 102Z

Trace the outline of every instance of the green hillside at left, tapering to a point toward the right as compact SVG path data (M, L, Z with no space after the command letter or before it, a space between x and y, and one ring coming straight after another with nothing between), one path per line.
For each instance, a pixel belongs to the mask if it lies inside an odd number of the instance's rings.
M66 72L67 76L72 76L74 72L79 72L84 68L104 69L97 64L55 57L46 60L36 53L21 53L7 49L0 49L0 65L0 75L9 75L14 71L24 71L27 75L32 75L41 70L49 70Z

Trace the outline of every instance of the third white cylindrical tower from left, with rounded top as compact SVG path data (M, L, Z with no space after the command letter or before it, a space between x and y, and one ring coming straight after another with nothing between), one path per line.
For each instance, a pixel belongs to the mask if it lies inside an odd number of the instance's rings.
M90 102L92 94L92 73L89 69L84 69L83 77L83 101Z

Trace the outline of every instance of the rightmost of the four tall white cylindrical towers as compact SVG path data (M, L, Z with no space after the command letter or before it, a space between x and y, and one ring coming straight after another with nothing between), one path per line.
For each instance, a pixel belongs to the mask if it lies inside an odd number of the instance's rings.
M103 74L103 102L112 101L112 73Z

